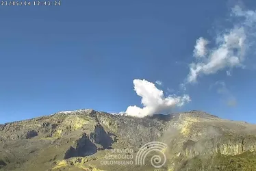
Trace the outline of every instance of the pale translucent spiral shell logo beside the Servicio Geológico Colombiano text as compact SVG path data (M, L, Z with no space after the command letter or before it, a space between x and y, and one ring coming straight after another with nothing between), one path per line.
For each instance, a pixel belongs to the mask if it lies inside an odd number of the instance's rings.
M151 157L151 165L155 168L161 168L166 163L166 155L164 155L163 152L166 147L167 145L163 142L149 142L144 144L136 155L135 163L137 165L144 165L146 155L154 151L161 153L162 156L153 155L153 157Z

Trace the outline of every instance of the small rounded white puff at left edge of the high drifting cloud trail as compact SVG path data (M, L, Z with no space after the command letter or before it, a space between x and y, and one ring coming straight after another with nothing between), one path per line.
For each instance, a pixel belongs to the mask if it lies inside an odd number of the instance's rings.
M207 44L208 40L204 38L199 38L196 40L196 45L194 46L194 57L204 57L207 54Z

